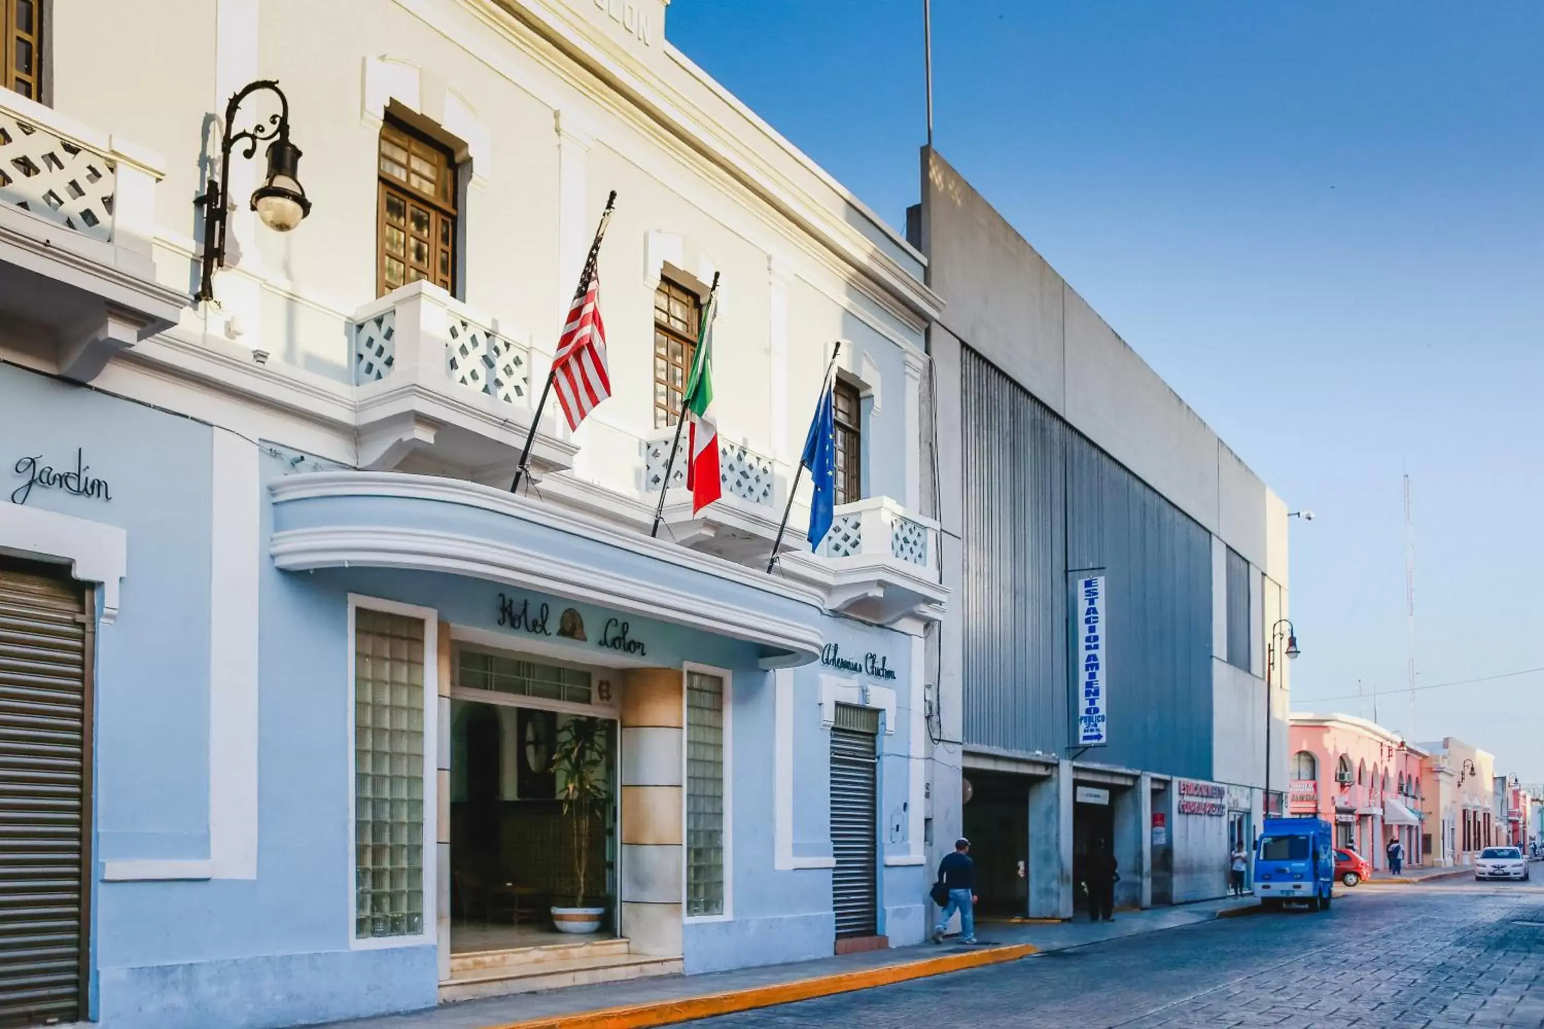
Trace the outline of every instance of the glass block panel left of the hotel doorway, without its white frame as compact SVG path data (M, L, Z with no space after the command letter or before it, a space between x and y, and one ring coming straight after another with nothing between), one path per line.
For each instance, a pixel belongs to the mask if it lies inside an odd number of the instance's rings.
M354 629L354 933L423 926L423 620L360 608Z

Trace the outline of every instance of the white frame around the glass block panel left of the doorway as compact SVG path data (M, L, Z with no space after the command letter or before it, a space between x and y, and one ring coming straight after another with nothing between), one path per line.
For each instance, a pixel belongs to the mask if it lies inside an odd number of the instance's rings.
M414 933L411 936L360 936L355 919L358 918L358 878L360 878L360 856L358 856L358 838L357 838L357 810L358 810L358 782L355 773L355 676L357 676L357 657L358 657L358 640L357 640L357 616L358 609L378 611L381 614L395 614L406 619L423 620L423 867L420 869L423 875L422 892L423 892L423 932ZM438 784L438 765L440 765L440 731L438 731L438 710L440 710L440 614L435 608L420 608L411 603L400 603L397 600L384 600L380 597L369 597L364 594L349 594L349 634L347 634L347 666L349 666L349 683L344 691L344 708L347 716L347 736L346 745L349 751L347 759L347 796L349 796L349 828L347 828L347 867L349 867L349 889L346 892L347 907L344 915L347 918L347 933L349 933L349 949L350 950L383 950L391 947L423 947L428 944L438 944L438 867L437 867L437 841L438 841L438 822L440 822L440 784Z

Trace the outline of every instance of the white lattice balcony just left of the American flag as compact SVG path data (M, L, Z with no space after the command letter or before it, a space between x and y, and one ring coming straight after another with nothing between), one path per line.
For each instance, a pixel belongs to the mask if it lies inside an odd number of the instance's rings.
M506 484L536 404L528 338L428 282L361 307L349 336L360 467ZM531 447L536 472L573 466L553 412Z

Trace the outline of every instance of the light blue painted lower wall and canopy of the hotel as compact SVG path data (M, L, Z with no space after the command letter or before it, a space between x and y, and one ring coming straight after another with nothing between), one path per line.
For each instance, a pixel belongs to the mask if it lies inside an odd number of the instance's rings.
M899 380L899 361L894 372ZM913 756L911 736L913 696L922 696L920 682L913 693L914 677L922 674L913 665L913 654L920 653L914 636L835 617L786 589L747 580L744 569L727 563L726 574L710 574L701 558L695 566L669 563L642 548L594 538L582 526L559 529L431 498L279 503L269 486L324 469L256 440L241 446L256 450L259 481L235 491L259 506L259 532L250 540L258 565L258 622L252 626L258 653L256 875L108 881L103 869L110 862L201 862L212 856L210 808L219 804L212 793L212 762L222 761L210 753L212 696L221 690L221 656L212 654L210 609L221 603L219 595L212 597L212 549L215 521L224 517L213 486L218 447L212 440L224 432L0 364L0 460L6 471L25 455L73 463L74 449L83 447L93 474L111 484L110 501L37 489L28 506L120 526L128 534L119 616L100 626L93 671L93 1020L108 1029L258 1027L437 1003L440 955L432 940L371 947L352 941L350 594L434 608L438 620L452 626L505 634L514 653L522 639L499 626L500 592L554 609L576 606L593 629L608 617L625 619L630 637L647 642L648 665L699 662L727 670L730 915L687 919L684 967L707 972L832 952L831 872L775 869L775 683L780 674L791 676L792 853L820 859L831 855L823 682L862 676L832 676L812 660L814 651L789 671L772 671L761 665L777 657L766 643L511 586L465 568L283 571L272 555L275 534L293 531L434 531L488 546L531 548L596 575L624 575L692 594L707 608L750 609L804 626L843 653L882 654L896 677L871 685L894 691L896 716L879 736L879 932L894 946L923 938L928 869L920 864L922 841L914 839L909 816L919 799L913 762L922 759ZM875 472L880 475L892 478L894 472ZM11 501L0 497L0 503ZM594 648L593 637L554 645L573 646L576 662Z

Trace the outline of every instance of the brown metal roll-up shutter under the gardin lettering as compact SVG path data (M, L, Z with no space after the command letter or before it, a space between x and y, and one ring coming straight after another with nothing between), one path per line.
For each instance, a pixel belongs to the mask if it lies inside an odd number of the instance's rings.
M90 642L79 586L0 563L0 1026L85 1015Z

